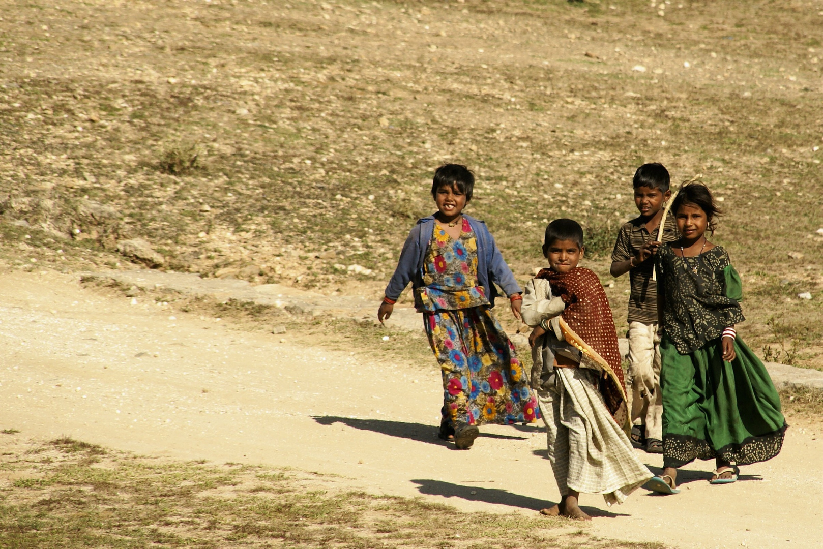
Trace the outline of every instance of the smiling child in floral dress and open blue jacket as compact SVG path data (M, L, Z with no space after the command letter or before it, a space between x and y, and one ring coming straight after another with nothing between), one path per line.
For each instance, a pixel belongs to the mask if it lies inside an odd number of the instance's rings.
M464 165L435 171L431 195L438 211L409 233L377 313L381 323L388 319L412 281L415 307L443 373L439 436L458 449L472 446L479 425L540 416L514 346L491 311L496 282L520 319L522 291L486 224L463 214L473 187L474 175Z

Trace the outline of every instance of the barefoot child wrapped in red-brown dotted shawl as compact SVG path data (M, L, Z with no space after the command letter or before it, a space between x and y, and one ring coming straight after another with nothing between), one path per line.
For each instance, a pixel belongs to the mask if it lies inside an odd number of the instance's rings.
M532 388L561 495L560 504L541 513L591 520L579 508L580 492L602 494L607 505L623 503L653 475L627 436L621 356L606 293L594 272L577 266L583 229L557 219L546 227L544 242L550 268L529 281L522 310L534 327Z

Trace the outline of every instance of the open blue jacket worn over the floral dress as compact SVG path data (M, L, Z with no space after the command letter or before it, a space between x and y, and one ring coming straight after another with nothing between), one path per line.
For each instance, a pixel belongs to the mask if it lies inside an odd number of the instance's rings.
M466 214L463 214L463 217L468 220L477 237L477 281L486 291L491 306L495 306L495 297L498 295L493 282L498 284L506 295L522 293L523 290L514 280L514 274L503 260L500 249L497 249L495 239L486 228L486 223ZM423 261L434 230L435 216L417 220L417 225L409 232L406 244L403 244L398 267L394 269L392 279L386 286L388 299L397 300L410 281L412 288L424 286Z

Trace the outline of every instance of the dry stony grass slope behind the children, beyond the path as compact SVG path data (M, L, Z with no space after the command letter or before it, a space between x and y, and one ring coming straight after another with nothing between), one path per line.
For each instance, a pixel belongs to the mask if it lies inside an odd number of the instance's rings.
M376 296L431 170L460 161L518 277L573 216L607 280L631 174L663 161L724 200L742 336L776 349L782 313L823 367L820 0L7 4L10 265L126 268L114 243L139 236L175 270Z

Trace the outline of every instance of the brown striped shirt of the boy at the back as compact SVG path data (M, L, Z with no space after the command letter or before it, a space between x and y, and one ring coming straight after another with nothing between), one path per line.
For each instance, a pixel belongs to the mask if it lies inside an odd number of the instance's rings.
M611 252L611 261L628 261L636 257L644 242L655 240L658 229L649 235L646 224L641 217L626 222L617 234L615 249ZM671 214L663 226L663 235L660 240L672 242L680 238L677 232L677 223ZM646 259L637 267L629 270L631 294L629 296L629 322L644 324L658 323L658 283L652 280L654 256Z

